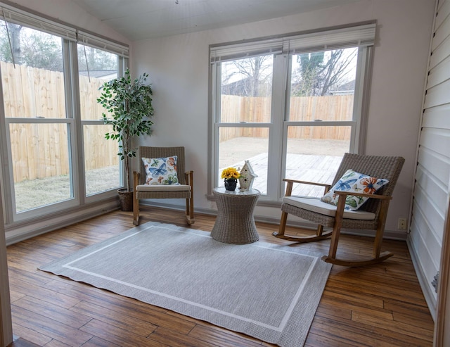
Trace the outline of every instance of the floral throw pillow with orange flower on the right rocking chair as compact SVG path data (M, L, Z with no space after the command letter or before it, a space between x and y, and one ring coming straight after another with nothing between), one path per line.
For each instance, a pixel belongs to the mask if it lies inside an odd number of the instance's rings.
M334 191L354 191L355 193L374 194L375 191L389 183L387 179L367 176L354 170L347 170L339 181L321 198L321 201L338 205L338 194ZM365 196L347 195L345 209L356 211L368 200Z

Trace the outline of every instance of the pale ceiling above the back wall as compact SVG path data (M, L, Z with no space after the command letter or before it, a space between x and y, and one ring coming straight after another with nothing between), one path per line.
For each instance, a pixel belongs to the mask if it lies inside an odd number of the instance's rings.
M72 0L131 41L209 30L360 0Z

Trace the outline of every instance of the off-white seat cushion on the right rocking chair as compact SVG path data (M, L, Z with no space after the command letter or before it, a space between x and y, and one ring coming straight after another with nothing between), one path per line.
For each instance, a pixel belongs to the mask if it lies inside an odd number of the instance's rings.
M329 215L334 217L336 215L337 207L330 203L321 201L320 198L302 198L300 196L284 196L283 203L303 208L311 212L320 213L321 215ZM344 210L344 218L351 220L374 220L375 213L367 212L364 210Z

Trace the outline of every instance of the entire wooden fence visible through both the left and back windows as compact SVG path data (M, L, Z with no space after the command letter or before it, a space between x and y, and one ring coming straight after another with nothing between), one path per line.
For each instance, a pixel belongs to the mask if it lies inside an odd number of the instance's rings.
M7 118L67 118L62 72L0 62ZM103 108L96 99L105 80L79 76L82 120L99 120ZM271 99L222 96L223 122L270 122ZM349 120L353 96L294 97L290 100L292 120ZM117 142L105 140L106 125L84 125L86 170L117 165ZM288 136L299 139L349 139L343 127L292 127ZM68 125L11 123L9 129L15 182L25 179L68 175L70 171ZM265 128L222 128L221 141L234 137L267 137ZM105 153L111 153L109 156Z

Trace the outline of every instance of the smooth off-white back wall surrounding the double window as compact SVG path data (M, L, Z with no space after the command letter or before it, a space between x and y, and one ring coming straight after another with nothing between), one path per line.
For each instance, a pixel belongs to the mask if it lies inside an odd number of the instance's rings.
M430 44L434 1L365 0L258 23L150 39L132 44L134 72L148 72L154 90L155 127L142 144L186 146L195 171L195 207L215 208L207 193L208 45L378 20L366 153L406 158L394 191L387 231L408 217L416 167L420 108ZM278 208L255 215L279 218ZM401 234L406 238L406 232Z

